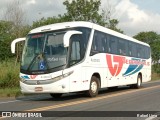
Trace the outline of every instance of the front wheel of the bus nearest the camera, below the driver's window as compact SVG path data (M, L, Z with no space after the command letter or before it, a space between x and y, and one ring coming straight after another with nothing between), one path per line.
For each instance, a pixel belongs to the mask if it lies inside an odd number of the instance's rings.
M95 76L92 76L89 90L87 91L87 95L89 97L96 97L98 95L99 90L99 79Z

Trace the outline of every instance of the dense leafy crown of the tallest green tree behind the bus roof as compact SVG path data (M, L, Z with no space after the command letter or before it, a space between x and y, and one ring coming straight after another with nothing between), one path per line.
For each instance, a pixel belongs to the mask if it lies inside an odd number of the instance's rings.
M69 21L91 21L103 24L102 16L98 13L100 0L66 0L63 2L67 13L64 16Z

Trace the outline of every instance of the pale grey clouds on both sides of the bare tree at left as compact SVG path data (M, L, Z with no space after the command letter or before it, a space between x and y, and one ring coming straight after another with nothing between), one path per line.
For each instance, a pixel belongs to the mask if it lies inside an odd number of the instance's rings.
M12 2L12 0L0 0L0 19L3 19L7 5ZM63 0L19 0L19 3L26 12L29 24L42 17L53 17L66 12Z

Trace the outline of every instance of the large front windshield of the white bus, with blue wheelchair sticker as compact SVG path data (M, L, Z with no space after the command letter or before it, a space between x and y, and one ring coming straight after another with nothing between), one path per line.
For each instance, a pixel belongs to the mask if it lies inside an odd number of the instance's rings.
M65 31L30 34L23 50L21 69L39 71L66 65Z

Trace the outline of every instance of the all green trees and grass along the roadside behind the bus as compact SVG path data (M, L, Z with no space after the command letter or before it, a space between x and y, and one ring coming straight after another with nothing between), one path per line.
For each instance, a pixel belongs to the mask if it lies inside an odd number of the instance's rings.
M100 0L64 0L66 13L42 17L33 21L32 25L26 24L26 11L19 3L19 0L10 2L4 11L4 19L0 20L0 96L10 97L20 93L19 68L24 43L17 43L15 55L11 54L10 44L12 40L26 36L33 28L67 21L90 21L125 34L125 31L117 28L119 21L112 17L116 11L109 2L106 8L100 9ZM53 4L56 4L55 1ZM138 33L134 38L150 44L153 60L152 80L159 80L160 35L154 31L147 31Z

